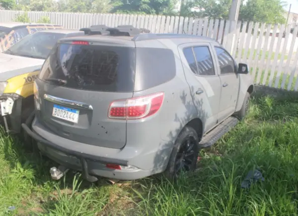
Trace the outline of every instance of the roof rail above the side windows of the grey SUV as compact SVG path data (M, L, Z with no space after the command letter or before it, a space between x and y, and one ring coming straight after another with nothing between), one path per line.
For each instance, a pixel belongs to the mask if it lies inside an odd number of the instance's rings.
M144 41L144 40L150 40L150 39L165 39L165 38L193 38L193 39L202 39L202 40L209 40L209 41L216 41L215 39L204 37L204 36L198 36L198 35L186 35L186 34L141 34L135 36L132 40L133 41Z

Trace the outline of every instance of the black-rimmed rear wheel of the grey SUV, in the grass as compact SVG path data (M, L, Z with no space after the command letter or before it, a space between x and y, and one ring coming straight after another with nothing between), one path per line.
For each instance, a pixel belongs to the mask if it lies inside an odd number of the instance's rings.
M175 141L165 175L175 180L180 171L193 171L197 167L199 137L194 128L186 126Z

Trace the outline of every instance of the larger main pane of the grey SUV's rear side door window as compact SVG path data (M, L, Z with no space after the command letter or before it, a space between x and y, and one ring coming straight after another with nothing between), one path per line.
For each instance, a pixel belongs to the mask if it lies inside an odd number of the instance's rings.
M214 65L210 50L208 47L194 47L195 58L198 65L198 75L215 75Z

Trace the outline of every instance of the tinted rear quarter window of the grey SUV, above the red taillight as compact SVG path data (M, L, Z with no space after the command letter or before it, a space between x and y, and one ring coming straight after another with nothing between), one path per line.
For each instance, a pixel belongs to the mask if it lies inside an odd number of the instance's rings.
M135 91L161 85L176 75L174 53L163 48L136 48Z

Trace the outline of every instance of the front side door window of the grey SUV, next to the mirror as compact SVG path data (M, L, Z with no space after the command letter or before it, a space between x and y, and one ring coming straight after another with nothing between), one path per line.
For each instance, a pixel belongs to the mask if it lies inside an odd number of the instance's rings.
M233 58L224 49L215 47L219 59L221 74L235 73L235 62Z

